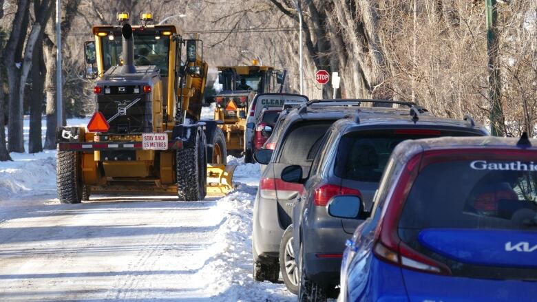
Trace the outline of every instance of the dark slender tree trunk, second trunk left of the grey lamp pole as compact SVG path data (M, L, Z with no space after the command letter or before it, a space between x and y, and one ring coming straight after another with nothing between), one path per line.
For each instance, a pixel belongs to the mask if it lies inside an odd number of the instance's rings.
M36 49L32 56L32 94L30 100L30 136L28 138L28 153L43 151L41 139L41 114L43 103L43 90L45 84L45 61L43 59L43 37L36 42Z

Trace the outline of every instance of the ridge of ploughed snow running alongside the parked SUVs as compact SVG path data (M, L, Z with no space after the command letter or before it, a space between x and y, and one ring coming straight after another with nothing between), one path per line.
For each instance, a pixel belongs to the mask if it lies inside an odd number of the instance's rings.
M221 226L207 250L205 265L194 279L207 286L207 292L213 294L211 301L296 300L283 284L253 281L251 232L256 191L253 186L242 186L218 200L207 215Z

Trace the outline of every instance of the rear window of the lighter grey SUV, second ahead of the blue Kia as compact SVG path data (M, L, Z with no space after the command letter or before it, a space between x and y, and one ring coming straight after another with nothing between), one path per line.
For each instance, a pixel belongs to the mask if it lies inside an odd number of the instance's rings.
M279 162L309 166L332 122L300 123L288 131L282 144Z

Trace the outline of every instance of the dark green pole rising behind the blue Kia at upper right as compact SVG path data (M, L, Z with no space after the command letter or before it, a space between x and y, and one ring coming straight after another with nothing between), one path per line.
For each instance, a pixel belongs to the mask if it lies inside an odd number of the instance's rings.
M489 99L492 105L490 110L490 133L492 136L503 136L496 0L485 0L485 12L487 16L487 54L489 56Z

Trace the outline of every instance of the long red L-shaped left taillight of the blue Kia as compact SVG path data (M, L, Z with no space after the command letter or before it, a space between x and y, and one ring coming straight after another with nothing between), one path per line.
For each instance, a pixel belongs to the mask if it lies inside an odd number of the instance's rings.
M413 250L401 241L397 233L399 217L410 188L412 188L412 183L418 174L420 162L421 154L415 155L403 169L399 182L397 182L390 200L386 203L386 213L382 217L377 233L375 233L373 253L379 259L402 268L451 275L448 266Z

